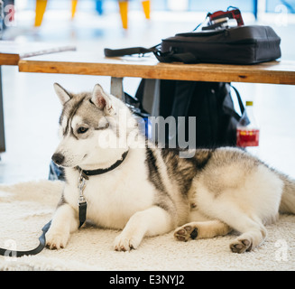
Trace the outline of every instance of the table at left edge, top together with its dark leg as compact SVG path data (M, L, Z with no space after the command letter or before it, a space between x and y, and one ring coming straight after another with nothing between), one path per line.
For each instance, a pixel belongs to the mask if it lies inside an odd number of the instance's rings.
M0 41L0 153L5 152L5 126L4 126L4 108L2 94L2 65L18 65L22 58L31 56L56 53L60 51L74 51L75 46L57 46L43 42L5 42Z

